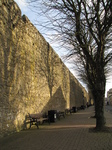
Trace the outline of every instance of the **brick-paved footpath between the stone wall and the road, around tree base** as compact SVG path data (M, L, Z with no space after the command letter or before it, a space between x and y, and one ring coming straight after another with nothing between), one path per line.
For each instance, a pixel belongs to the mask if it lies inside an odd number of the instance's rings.
M109 131L92 132L94 107L66 115L50 125L35 126L4 137L0 150L112 150L112 113L105 111Z

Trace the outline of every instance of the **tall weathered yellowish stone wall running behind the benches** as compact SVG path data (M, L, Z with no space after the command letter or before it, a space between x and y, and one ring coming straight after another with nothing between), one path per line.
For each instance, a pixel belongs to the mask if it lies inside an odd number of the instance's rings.
M83 104L85 89L13 0L0 0L0 137L27 113Z

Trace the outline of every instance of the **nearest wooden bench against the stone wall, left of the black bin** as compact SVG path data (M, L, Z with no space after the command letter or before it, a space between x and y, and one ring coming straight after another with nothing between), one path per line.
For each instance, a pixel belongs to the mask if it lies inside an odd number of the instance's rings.
M36 125L37 128L39 128L39 124L43 124L45 121L50 124L50 120L47 115L43 115L41 113L28 114L25 117L25 128L27 129L27 124L30 124L29 128L31 128L32 125Z

